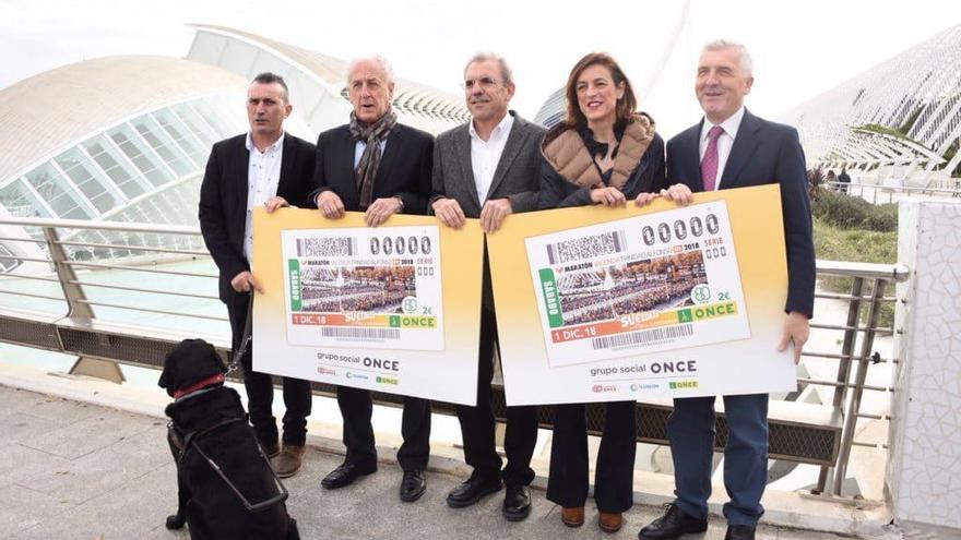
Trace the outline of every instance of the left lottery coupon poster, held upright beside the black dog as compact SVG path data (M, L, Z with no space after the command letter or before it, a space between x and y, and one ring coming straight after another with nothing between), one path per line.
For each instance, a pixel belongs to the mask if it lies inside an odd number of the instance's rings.
M475 405L484 237L476 220L254 211L253 369ZM439 384L439 382L443 384Z

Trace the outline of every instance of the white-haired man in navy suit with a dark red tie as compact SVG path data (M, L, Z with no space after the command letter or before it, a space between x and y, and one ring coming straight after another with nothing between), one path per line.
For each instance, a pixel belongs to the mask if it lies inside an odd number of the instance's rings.
M744 46L719 40L704 47L695 92L704 119L667 143L669 200L687 204L692 191L779 183L787 249L787 316L779 350L794 343L800 359L814 311L815 250L804 152L797 131L744 108L751 60ZM673 184L673 185L672 185ZM674 501L664 516L641 529L641 539L675 539L708 527L714 447L714 397L674 400L667 433L674 458ZM768 479L768 395L724 396L729 435L724 448L725 539L755 538Z

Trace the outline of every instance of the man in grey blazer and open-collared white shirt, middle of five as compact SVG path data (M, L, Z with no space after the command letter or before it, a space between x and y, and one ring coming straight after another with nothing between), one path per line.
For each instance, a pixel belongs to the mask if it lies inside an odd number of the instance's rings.
M430 207L448 227L460 228L465 217L479 217L484 231L494 233L509 214L537 207L544 129L508 111L514 83L510 68L496 55L478 53L467 62L464 92L473 119L437 137ZM464 458L474 471L450 492L447 504L454 508L470 506L499 491L502 479L507 484L503 516L518 521L531 513L527 485L534 479L531 456L537 443L537 409L508 407L503 445L507 467L501 471L490 392L497 321L486 244L482 303L477 406L458 406Z

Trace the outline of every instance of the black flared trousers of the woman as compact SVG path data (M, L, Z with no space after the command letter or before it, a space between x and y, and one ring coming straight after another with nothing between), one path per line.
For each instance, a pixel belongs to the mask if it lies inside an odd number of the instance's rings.
M594 502L601 512L627 512L633 505L637 403L604 405L604 433L594 471ZM556 405L547 500L561 506L583 506L588 500L588 469L586 407Z

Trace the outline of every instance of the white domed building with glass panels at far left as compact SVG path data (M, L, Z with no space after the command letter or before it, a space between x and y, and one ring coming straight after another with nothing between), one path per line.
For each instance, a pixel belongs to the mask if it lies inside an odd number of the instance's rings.
M189 60L110 57L0 91L0 121L9 128L0 214L195 224L210 146L246 129L246 87L237 75ZM81 235L99 243L200 248L187 238ZM11 242L4 250L16 253L22 247ZM129 251L71 253L109 259Z

